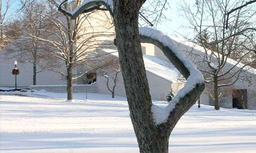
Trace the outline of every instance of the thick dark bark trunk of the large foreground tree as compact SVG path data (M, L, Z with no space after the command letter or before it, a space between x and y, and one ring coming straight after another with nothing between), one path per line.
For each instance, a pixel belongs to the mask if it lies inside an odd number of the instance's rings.
M115 1L116 45L130 116L140 152L168 152L169 134L159 130L152 118L152 100L141 52L138 13L139 1ZM139 72L139 73L138 73Z

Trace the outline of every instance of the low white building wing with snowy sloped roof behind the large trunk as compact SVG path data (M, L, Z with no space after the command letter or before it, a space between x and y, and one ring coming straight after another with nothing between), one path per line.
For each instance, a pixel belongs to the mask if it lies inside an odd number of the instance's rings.
M142 48L147 48L147 46L147 44L143 44ZM109 53L113 52L113 49L103 50ZM178 90L180 90L184 86L184 83L181 83L177 80L178 72L176 68L170 67L172 66L172 64L161 60L155 56L152 56L154 55L154 46L148 49L146 53L148 53L149 55L143 55L143 59L148 85L150 87L151 97L156 100L166 100L166 95L169 93L170 90L173 90L174 93L177 93ZM118 54L112 53L112 55L118 58ZM109 78L111 78L114 74L110 73L108 75ZM99 85L99 93L111 94L106 86L106 79L104 77L98 75L97 83ZM110 80L109 84L112 87L113 81ZM126 96L121 72L118 73L115 95Z

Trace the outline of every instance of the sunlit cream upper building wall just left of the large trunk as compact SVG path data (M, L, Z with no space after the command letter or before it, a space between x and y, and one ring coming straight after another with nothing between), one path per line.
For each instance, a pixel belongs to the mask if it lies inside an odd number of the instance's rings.
M95 49L110 48L106 42L113 41L115 38L115 29L109 11L95 11L94 13L82 14L87 18L81 18L79 39L76 41L77 48L82 52L90 53ZM89 24L90 22L90 24ZM99 47L101 46L101 47ZM85 56L87 56L85 54Z

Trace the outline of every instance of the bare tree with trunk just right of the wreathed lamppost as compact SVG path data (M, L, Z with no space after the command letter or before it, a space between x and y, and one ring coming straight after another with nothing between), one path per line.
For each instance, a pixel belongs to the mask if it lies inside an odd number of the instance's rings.
M47 1L30 3L26 8L20 10L21 16L17 23L8 26L8 32L12 34L12 39L15 40L11 45L7 46L7 54L10 58L17 57L20 62L28 62L33 64L33 85L36 85L36 74L44 70L45 67L39 67L39 63L52 62L51 57L46 53L47 48L44 43L39 42L36 37L47 39L48 35L41 32L42 29L47 29L43 24L46 19L41 16L41 13L49 13ZM16 25L16 26L14 26Z

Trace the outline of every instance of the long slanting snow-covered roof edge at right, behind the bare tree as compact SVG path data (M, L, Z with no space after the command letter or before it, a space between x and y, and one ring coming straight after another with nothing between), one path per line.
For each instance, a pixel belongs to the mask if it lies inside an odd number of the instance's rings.
M200 52L202 52L203 54L205 54L205 50L202 46L194 43L194 42L191 42L189 40L186 40L184 38L178 38L178 37L175 37L175 36L170 36L168 35L171 39L173 39L174 41L176 41L177 43L181 43L181 44L184 44L184 45L187 45L193 49L197 49L199 50ZM209 52L211 52L211 50L209 50ZM207 52L208 53L208 52ZM220 55L221 56L221 55ZM232 65L236 65L238 62L236 60L233 60L233 59L230 59L230 58L227 58L227 63L229 64L232 64ZM243 63L239 63L237 64L237 67L241 68L243 67L244 64ZM256 74L256 69L255 68L252 68L250 66L245 66L243 69L248 69L247 72L250 72L250 73L253 73L253 74Z

